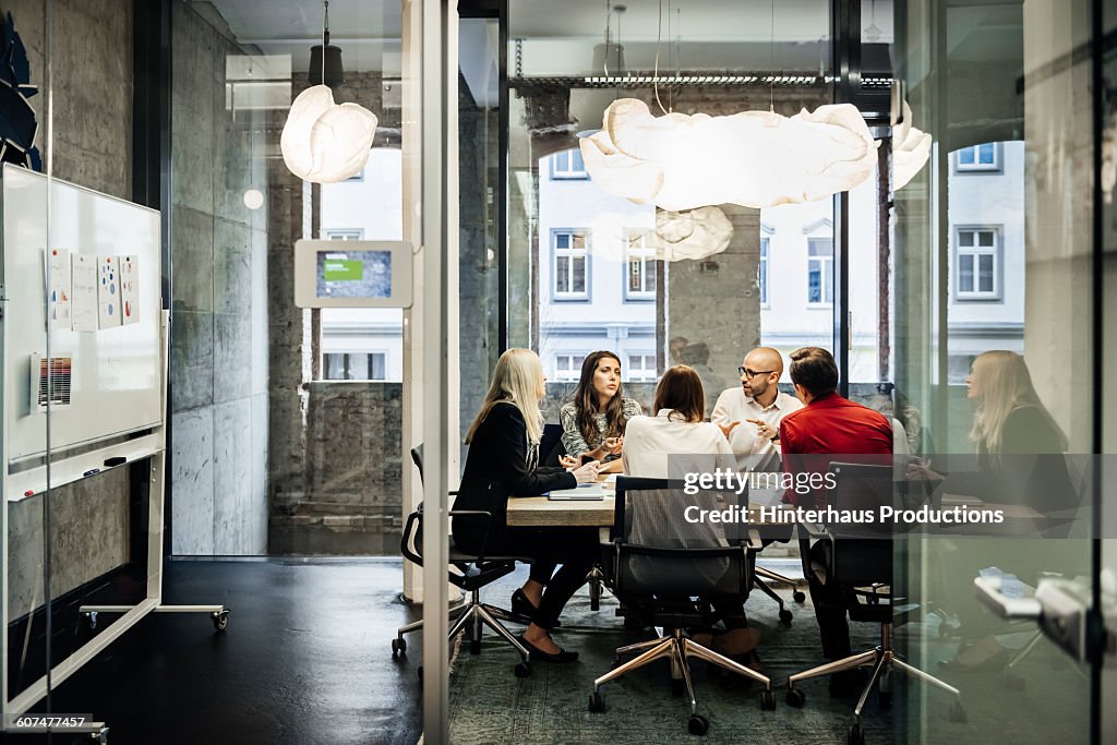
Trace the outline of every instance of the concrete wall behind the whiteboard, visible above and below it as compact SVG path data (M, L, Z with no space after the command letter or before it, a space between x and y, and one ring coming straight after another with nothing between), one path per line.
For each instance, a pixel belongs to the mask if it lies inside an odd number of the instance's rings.
M46 140L44 3L4 0L27 47L30 99ZM54 174L114 197L132 195L132 2L58 0L52 3ZM57 596L120 566L128 558L127 474L103 476L55 489L50 495L51 592ZM13 618L42 602L42 508L40 498L8 506L9 612Z

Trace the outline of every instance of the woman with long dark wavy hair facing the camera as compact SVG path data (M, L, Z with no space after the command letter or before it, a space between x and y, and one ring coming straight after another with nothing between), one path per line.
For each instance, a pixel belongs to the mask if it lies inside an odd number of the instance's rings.
M564 466L577 466L580 460L600 460L607 472L621 469L621 447L624 427L643 410L621 390L621 361L612 352L593 352L582 363L582 378L574 390L574 400L558 411L562 443L567 456Z

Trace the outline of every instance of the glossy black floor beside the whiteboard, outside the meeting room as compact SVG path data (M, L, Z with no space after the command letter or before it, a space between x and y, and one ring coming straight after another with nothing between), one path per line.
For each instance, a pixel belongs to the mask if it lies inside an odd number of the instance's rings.
M389 647L417 615L398 599L400 577L399 560L169 562L164 603L226 604L228 629L201 613L151 614L61 684L51 710L93 714L111 745L411 745L419 685ZM36 741L48 742L4 742Z

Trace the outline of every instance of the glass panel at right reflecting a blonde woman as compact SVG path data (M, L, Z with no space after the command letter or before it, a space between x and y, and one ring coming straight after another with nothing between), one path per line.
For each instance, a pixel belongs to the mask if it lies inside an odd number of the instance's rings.
M943 660L943 676L971 696L973 736L1086 742L1097 730L1083 653L1075 658L1069 637L1068 651L1034 623L990 613L973 580L999 577L1030 596L1040 581L1094 572L1086 538L1099 485L1081 453L1101 446L1100 94L1091 84L1098 63L1086 54L1098 6L897 6L897 77L913 124L934 145L927 168L895 194L894 404L918 418L917 451L933 468L976 477L975 487L948 476L947 493L1061 515L1046 531L908 542L908 590L934 613L905 646L918 665ZM1091 586L1075 585L1079 602L1090 603ZM932 738L939 699L908 690L909 733Z

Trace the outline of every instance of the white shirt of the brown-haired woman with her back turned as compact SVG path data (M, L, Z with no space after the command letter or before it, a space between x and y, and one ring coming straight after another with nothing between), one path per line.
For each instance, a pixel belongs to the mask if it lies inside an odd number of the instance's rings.
M629 476L682 478L688 472L736 469L728 440L717 424L681 421L674 409L633 417L624 430L621 459ZM669 457L678 456L678 457Z

